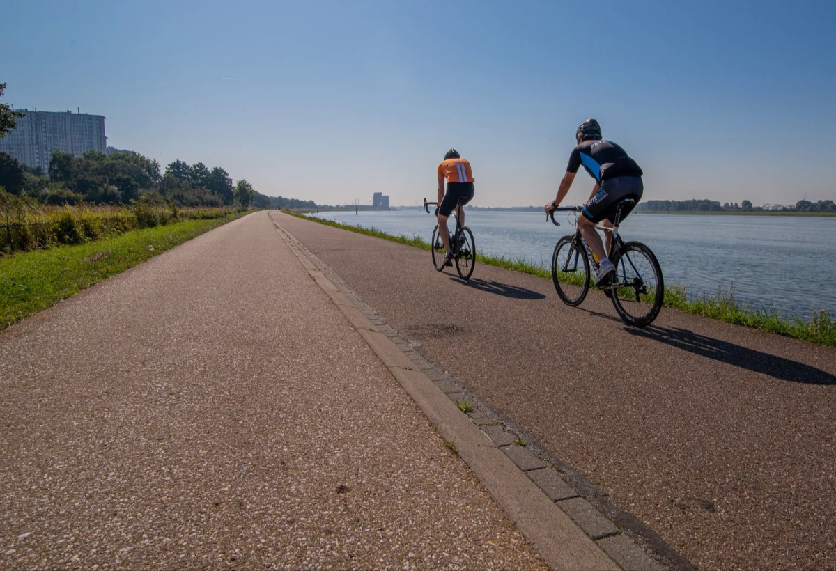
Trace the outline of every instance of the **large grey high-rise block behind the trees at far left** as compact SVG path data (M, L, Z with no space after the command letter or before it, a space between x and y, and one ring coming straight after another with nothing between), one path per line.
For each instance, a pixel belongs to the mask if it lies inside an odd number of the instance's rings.
M49 171L56 150L81 156L88 150L107 150L104 116L72 111L29 111L16 121L17 128L0 139L0 152L12 155L26 166Z

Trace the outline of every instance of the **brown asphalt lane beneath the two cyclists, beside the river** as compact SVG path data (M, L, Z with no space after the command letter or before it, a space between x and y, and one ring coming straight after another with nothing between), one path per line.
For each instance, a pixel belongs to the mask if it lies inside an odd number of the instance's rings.
M426 250L271 216L625 525L699 568L836 568L836 350L670 308L630 328L597 292L570 308L548 279L477 263L465 283Z

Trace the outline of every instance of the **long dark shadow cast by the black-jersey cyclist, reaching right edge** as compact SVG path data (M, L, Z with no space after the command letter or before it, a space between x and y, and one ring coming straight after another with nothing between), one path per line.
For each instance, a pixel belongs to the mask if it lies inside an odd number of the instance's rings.
M804 365L792 359L784 359L772 354L762 353L755 349L748 349L741 345L729 343L696 334L687 329L658 327L651 325L645 329L627 327L624 330L637 337L655 339L678 349L685 349L709 359L715 359L729 365L736 365L756 373L769 375L777 379L805 383L808 385L836 385L836 377L828 372Z

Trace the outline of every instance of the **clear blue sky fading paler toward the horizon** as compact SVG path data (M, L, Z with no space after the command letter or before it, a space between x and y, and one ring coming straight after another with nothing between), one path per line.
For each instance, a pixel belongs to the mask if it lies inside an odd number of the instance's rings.
M830 0L11 0L0 19L3 103L104 115L109 145L320 204L434 196L451 146L474 204L544 204L588 117L645 200L836 200L834 56Z

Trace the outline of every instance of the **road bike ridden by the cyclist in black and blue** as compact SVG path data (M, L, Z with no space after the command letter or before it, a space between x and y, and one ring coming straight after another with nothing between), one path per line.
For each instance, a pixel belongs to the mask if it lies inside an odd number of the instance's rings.
M620 201L612 228L596 226L596 230L611 232L609 260L615 273L601 289L609 297L615 311L625 324L645 327L653 323L665 301L665 283L662 268L649 247L641 242L624 242L619 235L619 222L624 208L632 208L634 200ZM558 296L567 305L576 306L589 292L590 273L599 272L599 260L595 259L580 230L577 229L579 212L584 206L558 206L548 217L555 226L554 212L569 212L569 223L576 226L574 235L567 234L558 240L552 255L552 281ZM629 212L629 211L628 211ZM572 218L573 217L573 218Z

